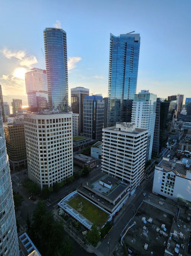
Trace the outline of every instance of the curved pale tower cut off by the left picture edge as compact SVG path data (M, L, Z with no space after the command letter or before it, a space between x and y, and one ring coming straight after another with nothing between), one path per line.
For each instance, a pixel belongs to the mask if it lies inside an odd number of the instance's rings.
M0 106L0 255L18 256L18 236L8 155Z

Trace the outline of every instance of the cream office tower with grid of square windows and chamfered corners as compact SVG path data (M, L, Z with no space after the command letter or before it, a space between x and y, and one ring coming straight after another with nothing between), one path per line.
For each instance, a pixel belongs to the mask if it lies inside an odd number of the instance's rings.
M24 114L29 178L51 187L73 175L72 114Z

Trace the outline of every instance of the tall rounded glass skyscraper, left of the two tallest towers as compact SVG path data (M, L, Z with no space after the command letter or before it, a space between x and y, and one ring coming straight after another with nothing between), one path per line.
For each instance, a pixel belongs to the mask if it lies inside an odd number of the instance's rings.
M49 110L68 112L68 64L66 32L60 28L44 30Z

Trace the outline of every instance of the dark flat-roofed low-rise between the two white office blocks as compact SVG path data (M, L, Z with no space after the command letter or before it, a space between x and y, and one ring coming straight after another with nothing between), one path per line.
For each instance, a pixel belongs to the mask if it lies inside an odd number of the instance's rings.
M87 166L91 169L94 169L97 166L97 160L93 157L88 157L87 155L78 154L73 156L73 162L76 165L81 166L84 168L84 166Z

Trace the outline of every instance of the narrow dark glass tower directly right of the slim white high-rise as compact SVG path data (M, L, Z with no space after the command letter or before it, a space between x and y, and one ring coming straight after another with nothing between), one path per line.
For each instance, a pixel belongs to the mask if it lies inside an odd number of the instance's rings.
M152 144L152 154L154 155L159 155L162 148L166 147L168 135L165 134L165 128L169 105L170 101L164 101L161 98L157 98L155 128Z

